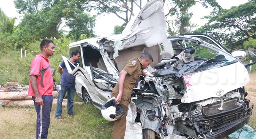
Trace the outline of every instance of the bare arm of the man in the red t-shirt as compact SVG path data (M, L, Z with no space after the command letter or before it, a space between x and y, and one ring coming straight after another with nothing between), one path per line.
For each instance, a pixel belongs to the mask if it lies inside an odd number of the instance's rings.
M30 75L30 83L31 83L31 87L33 89L33 92L35 94L35 103L37 103L38 105L42 105L42 107L44 107L44 102L42 97L40 96L38 87L37 87L37 82L36 82L36 75Z

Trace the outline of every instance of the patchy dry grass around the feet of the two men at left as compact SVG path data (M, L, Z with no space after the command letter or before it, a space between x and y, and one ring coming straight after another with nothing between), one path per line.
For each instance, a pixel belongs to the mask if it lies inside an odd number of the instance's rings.
M79 99L77 95L76 99ZM55 119L55 110L56 105L53 105L48 139L112 139L114 123L106 121L93 105L74 105L73 118L64 107L62 121ZM0 139L35 138L34 108L1 107L0 113Z

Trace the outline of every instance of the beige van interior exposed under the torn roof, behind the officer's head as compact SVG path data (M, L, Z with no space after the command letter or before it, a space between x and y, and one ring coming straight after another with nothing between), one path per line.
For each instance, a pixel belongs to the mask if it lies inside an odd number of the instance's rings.
M139 58L142 55L142 52L144 50L144 45L131 47L125 50L121 50L118 52L118 57L115 59L113 58L114 52L110 52L110 59L114 59L117 62L117 67L119 71L122 71L125 67L128 60L131 58ZM160 45L154 45L152 47L146 47L144 52L149 52L153 57L153 62L151 63L151 66L154 67L156 64L161 62L162 56L160 55L161 52L161 46ZM113 62L113 61L112 61Z

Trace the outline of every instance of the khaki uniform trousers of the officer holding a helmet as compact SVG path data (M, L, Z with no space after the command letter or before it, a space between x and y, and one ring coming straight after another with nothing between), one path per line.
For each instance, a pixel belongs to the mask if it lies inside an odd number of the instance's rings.
M111 97L117 98L117 94L112 93ZM128 97L123 95L120 104L123 104L128 107L129 105ZM114 121L113 139L123 139L125 137L126 115L127 113L122 118Z

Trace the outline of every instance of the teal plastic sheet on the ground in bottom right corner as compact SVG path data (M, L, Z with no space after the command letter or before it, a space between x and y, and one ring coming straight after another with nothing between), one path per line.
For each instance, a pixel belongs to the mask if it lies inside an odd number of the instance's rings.
M230 134L228 137L229 139L256 139L256 134L253 128L245 125L241 129L238 129L234 133Z

